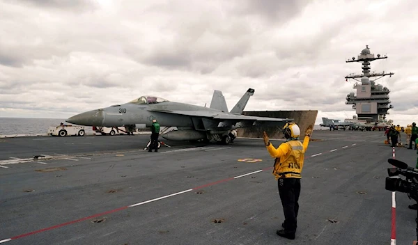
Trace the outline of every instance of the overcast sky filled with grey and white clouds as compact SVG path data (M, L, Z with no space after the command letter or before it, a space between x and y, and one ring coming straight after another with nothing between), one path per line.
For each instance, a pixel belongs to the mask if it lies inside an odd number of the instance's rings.
M318 110L345 104L366 45L389 58L395 124L418 122L418 2L0 1L0 117L68 118L141 95L203 106L222 90L229 109Z

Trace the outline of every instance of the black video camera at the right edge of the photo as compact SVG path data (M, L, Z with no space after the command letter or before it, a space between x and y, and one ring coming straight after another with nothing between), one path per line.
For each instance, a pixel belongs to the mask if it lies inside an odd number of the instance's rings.
M411 168L403 161L387 159L389 164L396 168L387 168L385 189L388 191L399 191L408 193L408 197L418 202L418 168ZM399 175L405 176L402 180Z

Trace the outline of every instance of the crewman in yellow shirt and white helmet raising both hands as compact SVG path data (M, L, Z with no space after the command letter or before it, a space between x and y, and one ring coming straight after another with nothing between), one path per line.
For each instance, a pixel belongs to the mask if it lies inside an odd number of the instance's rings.
M287 122L283 127L286 142L276 149L270 143L268 135L263 132L265 146L271 157L275 158L273 175L278 180L279 195L284 212L283 230L277 230L277 235L295 239L297 228L297 212L299 211L300 179L304 153L307 151L312 134L312 125L305 132L303 143L299 141L300 128L295 122Z

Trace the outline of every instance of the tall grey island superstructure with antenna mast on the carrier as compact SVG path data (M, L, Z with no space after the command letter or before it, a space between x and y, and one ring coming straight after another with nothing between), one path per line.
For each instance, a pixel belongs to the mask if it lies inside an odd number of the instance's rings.
M387 56L380 56L380 54L375 56L371 54L369 45L366 45L366 48L362 50L357 58L353 57L351 60L346 61L346 63L361 62L363 70L362 74L350 74L345 77L346 81L348 79L359 81L359 83L356 82L353 86L357 90L357 93L349 93L346 97L346 104L353 104L353 109L356 110L359 119L366 119L367 122L375 125L378 123L387 124L386 115L389 114L387 111L394 108L390 104L389 88L381 84L376 84L376 80L388 75L392 76L394 73L376 73L370 71L371 61L383 58L387 58Z

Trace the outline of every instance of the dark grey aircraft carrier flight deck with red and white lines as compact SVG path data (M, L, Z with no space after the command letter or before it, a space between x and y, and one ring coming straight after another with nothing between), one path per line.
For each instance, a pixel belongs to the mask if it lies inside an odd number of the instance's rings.
M0 139L0 243L390 242L392 147L383 132L314 132L323 141L311 141L306 154L295 240L276 235L284 216L261 139L167 142L171 148L148 152L148 137ZM415 165L414 150L395 154ZM414 202L399 192L396 202L396 242L412 244Z

